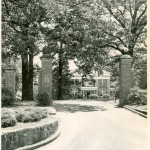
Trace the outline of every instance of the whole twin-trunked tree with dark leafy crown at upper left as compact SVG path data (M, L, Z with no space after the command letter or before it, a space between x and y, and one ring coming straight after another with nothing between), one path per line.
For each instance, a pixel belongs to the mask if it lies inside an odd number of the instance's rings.
M3 45L21 55L23 100L33 99L33 57L39 51L40 26L45 20L46 8L40 0L2 1Z

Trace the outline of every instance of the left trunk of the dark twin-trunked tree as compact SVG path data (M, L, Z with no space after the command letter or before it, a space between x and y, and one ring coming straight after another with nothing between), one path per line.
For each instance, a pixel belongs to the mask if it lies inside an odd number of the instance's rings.
M28 55L22 56L22 100L28 100Z

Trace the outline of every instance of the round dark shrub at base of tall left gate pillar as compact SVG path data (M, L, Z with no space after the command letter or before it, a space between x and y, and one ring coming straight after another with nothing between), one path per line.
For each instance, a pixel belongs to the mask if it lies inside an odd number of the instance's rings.
M49 99L49 94L44 92L36 96L36 101L39 106L51 106L52 100Z

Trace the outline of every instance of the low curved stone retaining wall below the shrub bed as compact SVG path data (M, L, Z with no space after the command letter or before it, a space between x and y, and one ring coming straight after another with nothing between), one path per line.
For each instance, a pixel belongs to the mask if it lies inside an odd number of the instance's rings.
M2 150L14 150L43 141L58 129L58 121L2 133Z

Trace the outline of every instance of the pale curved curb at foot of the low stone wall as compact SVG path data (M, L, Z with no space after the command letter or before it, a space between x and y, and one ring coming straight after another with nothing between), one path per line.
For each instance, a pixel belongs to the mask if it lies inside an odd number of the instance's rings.
M33 149L36 149L36 148L39 148L41 146L44 146L48 143L51 143L53 142L55 139L57 139L60 135L61 131L60 131L60 128L49 138L47 138L46 140L43 140L39 143L36 143L36 144L33 144L33 145L28 145L28 146L24 146L24 147L20 147L16 150L33 150Z

